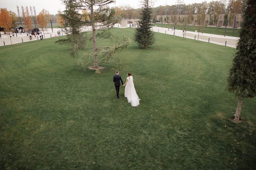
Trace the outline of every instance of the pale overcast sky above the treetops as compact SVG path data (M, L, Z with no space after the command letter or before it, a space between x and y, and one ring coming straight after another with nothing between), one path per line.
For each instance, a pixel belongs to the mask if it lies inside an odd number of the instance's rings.
M139 8L139 0L115 0L116 6L121 5L130 5L133 8ZM204 0L184 0L185 4L191 4L191 3L200 3ZM212 0L205 0L207 2L210 2ZM214 0L215 1L215 0ZM174 5L176 3L176 0L155 0L154 7L158 7L160 5ZM36 14L38 14L43 8L49 11L50 14L57 14L58 10L64 10L65 6L61 4L60 0L43 0L43 1L37 1L37 0L1 0L0 7L1 8L7 8L7 10L11 10L17 14L17 7L19 6L20 12L21 12L21 5L26 8L28 6L28 10L30 12L30 7L35 6L36 8ZM113 6L115 6L113 5Z

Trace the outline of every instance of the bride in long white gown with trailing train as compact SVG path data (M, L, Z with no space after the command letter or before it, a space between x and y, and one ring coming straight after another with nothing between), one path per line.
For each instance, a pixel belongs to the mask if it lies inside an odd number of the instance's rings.
M127 74L126 82L123 86L125 86L125 97L127 97L128 103L131 103L132 107L136 107L140 104L139 96L136 93L134 84L133 84L133 76L131 73Z

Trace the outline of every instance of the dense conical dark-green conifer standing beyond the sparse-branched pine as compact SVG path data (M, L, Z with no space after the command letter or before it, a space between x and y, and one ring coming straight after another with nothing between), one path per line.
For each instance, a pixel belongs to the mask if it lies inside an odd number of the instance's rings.
M148 46L155 43L155 34L151 30L151 15L152 15L152 0L143 0L141 1L142 12L140 13L141 17L138 21L137 28L134 33L134 41L141 48L147 48Z

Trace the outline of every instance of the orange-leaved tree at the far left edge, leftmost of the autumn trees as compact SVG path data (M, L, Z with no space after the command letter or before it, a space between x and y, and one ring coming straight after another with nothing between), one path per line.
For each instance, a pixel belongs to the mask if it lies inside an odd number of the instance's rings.
M0 9L0 25L5 28L5 31L10 33L13 23L12 18L6 8Z

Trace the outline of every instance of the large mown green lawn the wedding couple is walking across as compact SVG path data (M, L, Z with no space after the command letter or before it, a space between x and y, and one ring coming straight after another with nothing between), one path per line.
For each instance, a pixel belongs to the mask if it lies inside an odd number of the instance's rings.
M0 169L255 169L256 99L244 99L241 123L229 120L234 48L156 33L95 74L55 41L0 47ZM122 86L117 99L116 70L132 73L139 107Z

